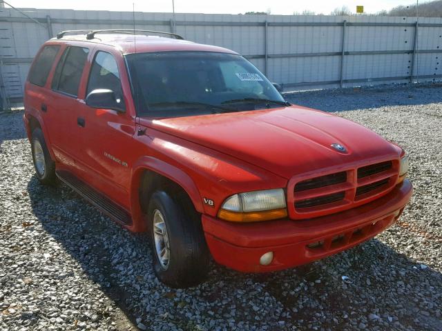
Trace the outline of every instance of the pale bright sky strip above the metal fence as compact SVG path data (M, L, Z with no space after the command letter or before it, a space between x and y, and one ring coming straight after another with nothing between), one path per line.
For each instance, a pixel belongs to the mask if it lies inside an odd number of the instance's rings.
M140 12L171 12L172 0L5 0L17 8L54 8L75 10L115 10ZM426 2L426 1L419 1ZM369 13L380 10L390 10L393 7L410 4L414 0L175 0L175 12L202 12L206 14L239 14L244 12L266 12L271 14L290 15L294 12L311 10L316 13L329 14L335 8L347 6L356 12L356 6L364 6L364 11ZM8 6L6 5L6 8Z

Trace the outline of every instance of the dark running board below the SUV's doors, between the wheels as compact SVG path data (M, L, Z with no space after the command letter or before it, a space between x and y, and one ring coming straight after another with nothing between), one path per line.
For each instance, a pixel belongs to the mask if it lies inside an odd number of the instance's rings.
M90 185L79 179L75 174L66 170L57 170L56 173L61 181L66 183L66 185L80 194L81 197L84 197L84 199L95 205L99 210L102 210L102 212L109 217L124 225L132 224L131 214L129 214L127 210L111 201L111 199L95 190L95 188L91 188Z

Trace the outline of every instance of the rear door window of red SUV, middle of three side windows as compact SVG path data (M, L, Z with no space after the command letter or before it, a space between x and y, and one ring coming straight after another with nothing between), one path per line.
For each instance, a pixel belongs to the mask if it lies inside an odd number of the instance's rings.
M70 46L66 48L55 69L52 90L57 90L77 97L81 74L83 73L88 48Z

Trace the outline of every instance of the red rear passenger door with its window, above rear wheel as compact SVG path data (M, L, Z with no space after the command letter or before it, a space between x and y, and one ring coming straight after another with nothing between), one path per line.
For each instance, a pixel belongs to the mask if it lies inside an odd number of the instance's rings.
M81 167L77 161L84 128L79 116L78 94L88 54L88 48L68 46L57 63L48 92L52 150L59 161L74 168Z

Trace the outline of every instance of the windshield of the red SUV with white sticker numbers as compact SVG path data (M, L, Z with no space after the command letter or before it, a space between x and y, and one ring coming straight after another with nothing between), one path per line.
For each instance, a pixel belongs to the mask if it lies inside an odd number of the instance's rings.
M140 116L184 117L285 106L249 61L218 52L126 55Z

